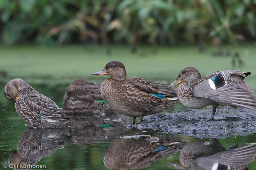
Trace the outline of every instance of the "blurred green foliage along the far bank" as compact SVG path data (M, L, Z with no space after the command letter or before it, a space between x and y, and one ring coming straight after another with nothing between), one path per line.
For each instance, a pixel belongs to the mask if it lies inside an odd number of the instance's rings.
M255 39L256 0L0 0L3 44L198 44Z

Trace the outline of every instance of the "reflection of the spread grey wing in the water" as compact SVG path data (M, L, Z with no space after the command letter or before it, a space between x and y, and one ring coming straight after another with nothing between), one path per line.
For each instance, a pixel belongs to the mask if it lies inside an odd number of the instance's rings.
M218 152L210 157L201 157L196 159L196 164L201 167L207 166L209 169L221 169L230 167L246 167L256 155L256 145L249 144L227 151ZM224 168L225 169L225 168Z

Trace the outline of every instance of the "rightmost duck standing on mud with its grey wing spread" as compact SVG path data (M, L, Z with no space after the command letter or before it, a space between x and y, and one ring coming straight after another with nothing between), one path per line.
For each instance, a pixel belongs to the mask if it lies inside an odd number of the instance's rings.
M244 82L244 78L250 74L240 70L224 70L201 78L195 67L186 67L168 88L178 85L177 96L188 108L212 105L210 120L214 120L216 107L220 103L227 104L228 109L238 106L256 110L255 96L252 95L255 92Z

